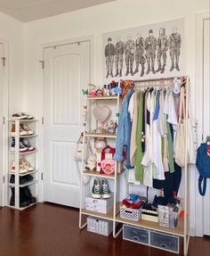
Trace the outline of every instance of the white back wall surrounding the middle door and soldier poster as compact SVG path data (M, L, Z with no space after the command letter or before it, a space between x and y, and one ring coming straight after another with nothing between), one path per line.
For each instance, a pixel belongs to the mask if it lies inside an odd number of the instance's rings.
M85 35L94 36L93 83L102 84L102 33L117 29L138 27L149 23L185 18L186 74L191 80L191 103L195 106L195 38L196 13L208 11L208 0L118 0L109 4L70 12L25 26L25 95L26 109L42 116L42 78L40 45ZM38 106L37 106L38 105ZM194 111L194 109L193 109ZM191 232L195 234L194 197L195 170L191 172Z

